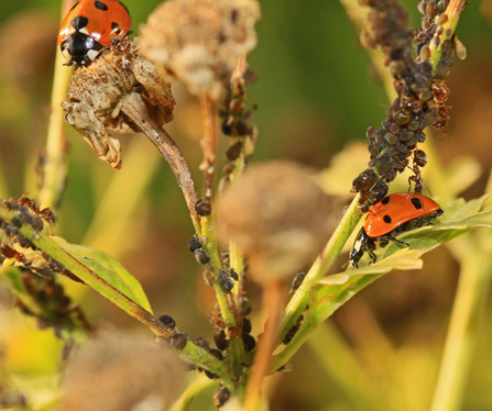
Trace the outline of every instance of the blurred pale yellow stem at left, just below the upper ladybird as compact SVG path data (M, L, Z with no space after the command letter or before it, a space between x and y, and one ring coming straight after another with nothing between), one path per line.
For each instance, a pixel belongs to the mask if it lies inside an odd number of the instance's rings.
M46 153L44 156L43 182L40 191L40 203L55 208L65 188L67 175L67 142L63 132L65 112L59 103L70 81L72 68L64 66L65 58L57 51L53 80L50 125L47 131Z

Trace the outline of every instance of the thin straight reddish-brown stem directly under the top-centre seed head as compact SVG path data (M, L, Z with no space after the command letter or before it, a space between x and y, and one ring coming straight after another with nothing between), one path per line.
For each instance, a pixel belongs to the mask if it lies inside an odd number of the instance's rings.
M204 171L201 197L204 202L210 204L214 197L214 174L217 163L217 104L207 96L200 98L200 103L204 120L204 138L201 140L204 160L200 164L200 170Z

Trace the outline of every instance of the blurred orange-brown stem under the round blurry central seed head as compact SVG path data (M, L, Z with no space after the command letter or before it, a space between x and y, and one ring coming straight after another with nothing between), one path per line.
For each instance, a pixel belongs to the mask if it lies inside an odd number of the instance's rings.
M282 281L270 282L263 287L262 308L266 311L267 316L263 334L258 341L251 376L247 386L244 411L256 411L260 406L261 386L271 362L283 291Z

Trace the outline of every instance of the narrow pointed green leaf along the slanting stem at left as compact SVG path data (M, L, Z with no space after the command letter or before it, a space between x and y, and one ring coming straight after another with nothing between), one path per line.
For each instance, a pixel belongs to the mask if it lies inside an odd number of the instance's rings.
M108 281L121 293L136 302L143 309L152 312L149 299L140 282L109 254L97 248L70 244L62 237L52 236L51 238L79 263Z

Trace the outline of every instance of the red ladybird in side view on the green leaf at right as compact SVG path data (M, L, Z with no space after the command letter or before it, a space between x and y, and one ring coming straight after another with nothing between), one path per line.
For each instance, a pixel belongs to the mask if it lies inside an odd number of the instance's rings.
M350 264L359 268L359 260L365 252L371 257L371 264L375 263L376 242L381 247L386 246L390 241L408 245L396 240L396 236L405 231L428 225L442 213L436 201L419 193L396 192L383 198L369 212L364 226L350 251Z

